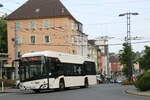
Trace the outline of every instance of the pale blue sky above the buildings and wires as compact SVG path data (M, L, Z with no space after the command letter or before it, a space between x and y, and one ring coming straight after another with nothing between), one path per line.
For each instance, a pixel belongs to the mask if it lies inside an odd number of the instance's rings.
M10 14L27 0L0 0L4 7L0 15ZM61 0L70 13L83 24L84 33L89 39L101 36L111 37L108 40L109 51L118 53L126 36L126 16L119 14L137 12L131 16L131 36L140 40L132 40L134 51L144 50L150 46L150 0ZM119 44L119 45L114 45Z

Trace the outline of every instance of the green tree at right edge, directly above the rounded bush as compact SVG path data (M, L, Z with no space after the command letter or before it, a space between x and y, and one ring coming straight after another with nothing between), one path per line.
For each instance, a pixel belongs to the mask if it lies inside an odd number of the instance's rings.
M143 70L150 70L150 47L145 46L144 55L139 58L140 68Z

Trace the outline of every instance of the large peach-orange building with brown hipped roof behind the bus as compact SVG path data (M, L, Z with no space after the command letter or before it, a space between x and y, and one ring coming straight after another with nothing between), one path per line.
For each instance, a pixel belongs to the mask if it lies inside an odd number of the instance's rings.
M59 0L29 0L6 20L9 63L24 53L43 50L87 56L82 24Z

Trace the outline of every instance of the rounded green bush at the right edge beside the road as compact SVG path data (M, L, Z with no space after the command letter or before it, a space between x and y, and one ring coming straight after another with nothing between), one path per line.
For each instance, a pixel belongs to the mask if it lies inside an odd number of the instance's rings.
M150 90L150 71L146 71L137 77L135 87L141 91Z

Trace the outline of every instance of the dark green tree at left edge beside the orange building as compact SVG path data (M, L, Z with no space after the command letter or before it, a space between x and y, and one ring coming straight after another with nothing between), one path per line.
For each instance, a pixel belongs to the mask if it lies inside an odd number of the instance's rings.
M0 17L0 53L7 53L7 24L4 20L6 16Z

